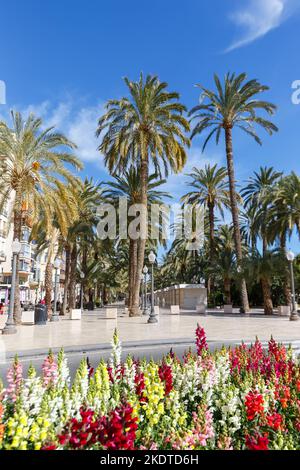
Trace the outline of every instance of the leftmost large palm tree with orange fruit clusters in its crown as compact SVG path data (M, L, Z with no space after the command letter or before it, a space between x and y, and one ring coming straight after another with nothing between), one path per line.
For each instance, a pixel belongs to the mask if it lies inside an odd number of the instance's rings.
M75 145L53 127L43 129L42 120L33 114L26 120L19 112L12 111L11 116L12 128L0 122L0 208L13 193L13 237L20 240L22 226L32 224L41 211L51 224L54 190L74 179L65 165L76 169L82 165L70 151ZM20 323L18 269L14 311L15 321Z

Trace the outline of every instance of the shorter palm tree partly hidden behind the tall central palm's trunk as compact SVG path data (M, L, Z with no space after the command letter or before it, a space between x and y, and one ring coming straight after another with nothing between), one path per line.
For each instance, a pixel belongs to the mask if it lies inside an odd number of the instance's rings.
M166 183L164 179L157 179L156 174L149 175L148 177L148 215L150 219L150 205L162 204L163 199L167 199L170 195L163 192L159 187ZM128 206L138 204L140 202L140 188L141 176L138 168L131 166L128 170L124 171L122 176L116 175L113 181L106 183L107 190L103 191L103 196L108 200L112 200L118 208L119 198L126 198ZM122 240L120 241L122 243ZM127 245L127 243L126 243ZM134 291L134 279L136 278L137 269L137 253L138 253L137 240L130 238L129 240L129 264L128 264L128 306L132 306L132 298Z

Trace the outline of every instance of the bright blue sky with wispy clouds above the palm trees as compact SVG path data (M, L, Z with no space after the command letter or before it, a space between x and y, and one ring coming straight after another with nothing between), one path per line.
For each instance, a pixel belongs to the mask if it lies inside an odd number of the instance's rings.
M300 79L300 0L1 0L0 80L10 108L29 110L57 125L78 144L84 173L107 178L94 138L97 117L109 98L126 92L125 75L157 74L181 93L190 108L195 84L212 86L212 75L246 71L270 86L266 98L279 109L278 135L259 147L235 134L237 178L259 165L300 173L300 105L291 84ZM225 163L224 147L204 155L194 141L185 172L207 162ZM184 175L167 189L185 190Z

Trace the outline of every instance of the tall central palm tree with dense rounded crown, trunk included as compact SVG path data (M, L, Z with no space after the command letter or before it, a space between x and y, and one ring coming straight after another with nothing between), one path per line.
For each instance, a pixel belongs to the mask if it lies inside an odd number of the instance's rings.
M186 161L185 146L189 139L185 132L189 124L186 110L179 102L179 94L167 91L167 83L148 75L136 82L125 78L130 96L108 101L106 113L99 119L97 135L102 132L99 150L112 174L120 173L128 165L140 169L140 204L142 222L130 315L139 315L139 293L147 238L147 190L149 165L152 162L157 175L161 166L168 172L180 171Z

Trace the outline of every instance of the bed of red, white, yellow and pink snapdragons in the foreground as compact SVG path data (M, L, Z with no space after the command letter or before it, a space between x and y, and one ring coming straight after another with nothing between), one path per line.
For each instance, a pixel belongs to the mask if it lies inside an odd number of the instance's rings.
M270 340L211 353L196 331L197 354L160 362L82 360L73 383L63 351L42 375L23 377L16 359L0 399L2 449L300 449L300 369Z

